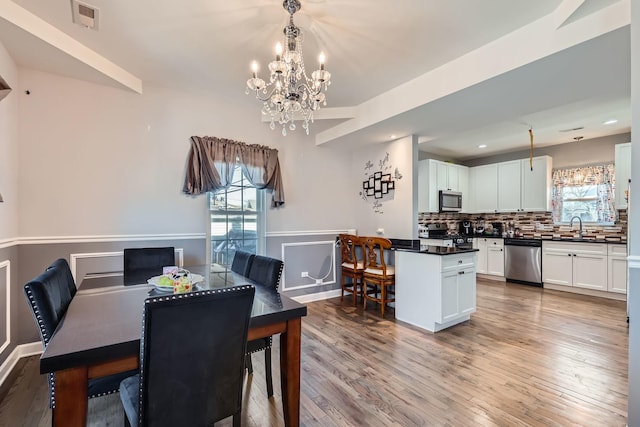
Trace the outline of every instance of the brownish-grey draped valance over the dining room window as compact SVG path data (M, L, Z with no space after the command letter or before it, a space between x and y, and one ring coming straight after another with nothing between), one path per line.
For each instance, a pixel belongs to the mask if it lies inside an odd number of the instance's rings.
M236 164L256 188L271 191L272 207L284 204L278 150L211 136L191 137L182 191L196 195L226 189Z

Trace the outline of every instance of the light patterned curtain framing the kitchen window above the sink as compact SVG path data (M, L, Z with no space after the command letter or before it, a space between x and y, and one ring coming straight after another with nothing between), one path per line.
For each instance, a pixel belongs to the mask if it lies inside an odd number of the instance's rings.
M596 211L597 222L609 223L616 220L614 203L615 166L598 165L582 168L556 169L552 175L552 210L553 221L561 222L563 189L583 185L595 185L597 189Z

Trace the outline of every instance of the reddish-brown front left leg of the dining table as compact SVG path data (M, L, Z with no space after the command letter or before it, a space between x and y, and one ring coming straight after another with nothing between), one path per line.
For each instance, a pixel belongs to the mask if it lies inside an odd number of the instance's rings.
M56 372L54 427L87 425L87 374L86 366Z

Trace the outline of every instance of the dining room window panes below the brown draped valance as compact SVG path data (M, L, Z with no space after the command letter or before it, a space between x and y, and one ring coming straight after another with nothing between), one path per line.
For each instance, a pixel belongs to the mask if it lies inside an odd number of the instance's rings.
M211 265L229 267L238 249L264 253L265 190L249 182L239 163L228 188L207 196Z

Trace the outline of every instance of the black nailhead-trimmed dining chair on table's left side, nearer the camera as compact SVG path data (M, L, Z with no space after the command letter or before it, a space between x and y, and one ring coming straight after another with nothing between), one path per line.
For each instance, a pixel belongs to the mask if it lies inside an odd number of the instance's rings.
M73 281L70 270L67 271L69 265L66 261L64 263L59 261L54 262L44 273L24 285L24 292L38 327L43 348L47 348L49 340L75 295L75 284L69 282L69 280ZM73 294L70 291L72 285ZM133 373L130 371L89 380L87 394L92 398L117 392L120 381ZM56 404L55 374L48 374L47 383L49 407L54 408Z

